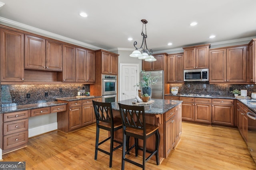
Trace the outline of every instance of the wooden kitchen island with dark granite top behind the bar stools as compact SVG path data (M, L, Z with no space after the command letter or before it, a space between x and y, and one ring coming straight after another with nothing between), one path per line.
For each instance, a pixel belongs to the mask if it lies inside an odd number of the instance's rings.
M181 135L181 121L182 121L182 101L178 100L154 100L152 104L144 105L146 113L146 123L159 126L160 133L160 145L159 145L159 157L160 163L164 158L167 158L171 150L176 147L180 140ZM133 105L134 99L122 100L112 103L112 109L114 117L120 117L118 103ZM115 132L114 138L118 141L122 141L122 129ZM151 142L152 141L152 142ZM134 140L130 140L132 145ZM155 136L151 136L147 139L146 148L154 149ZM139 145L142 146L142 141L139 141ZM139 154L141 154L140 152ZM151 159L155 160L153 156Z

